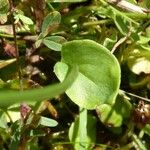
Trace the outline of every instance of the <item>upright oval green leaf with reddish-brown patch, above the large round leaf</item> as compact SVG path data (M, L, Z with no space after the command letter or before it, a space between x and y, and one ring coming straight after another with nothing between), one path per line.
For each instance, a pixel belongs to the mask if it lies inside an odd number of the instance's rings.
M54 30L61 21L61 15L58 11L53 11L49 13L43 21L42 24L42 34L46 36L49 32Z

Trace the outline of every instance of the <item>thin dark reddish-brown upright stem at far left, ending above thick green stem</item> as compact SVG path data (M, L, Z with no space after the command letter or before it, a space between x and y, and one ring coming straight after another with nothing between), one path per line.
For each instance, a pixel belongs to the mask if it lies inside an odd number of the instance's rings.
M16 51L16 62L17 62L17 67L18 67L18 76L19 76L19 82L20 82L20 90L23 90L22 86L22 73L21 73L21 67L20 67L20 59L19 59L19 50L18 50L18 45L17 45L17 34L16 34L16 28L15 28L15 20L13 17L14 13L14 6L13 6L13 1L9 0L10 4L10 13L11 13L11 19L12 19L12 29L13 29L13 37L14 37L14 44L15 44L15 51Z

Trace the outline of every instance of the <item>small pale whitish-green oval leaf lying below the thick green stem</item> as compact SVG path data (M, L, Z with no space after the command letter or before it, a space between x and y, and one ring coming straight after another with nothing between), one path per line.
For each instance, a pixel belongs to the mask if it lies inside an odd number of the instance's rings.
M57 121L55 121L53 119L41 117L40 124L43 126L47 126L47 127L55 127L55 126L57 126L58 123L57 123Z

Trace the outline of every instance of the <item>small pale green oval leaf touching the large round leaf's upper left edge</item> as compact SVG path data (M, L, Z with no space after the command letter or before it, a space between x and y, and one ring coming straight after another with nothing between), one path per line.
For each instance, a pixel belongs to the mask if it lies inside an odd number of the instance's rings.
M47 46L49 49L55 50L55 51L61 51L62 45L59 43L56 43L54 41L47 40L46 38L43 39L43 44Z

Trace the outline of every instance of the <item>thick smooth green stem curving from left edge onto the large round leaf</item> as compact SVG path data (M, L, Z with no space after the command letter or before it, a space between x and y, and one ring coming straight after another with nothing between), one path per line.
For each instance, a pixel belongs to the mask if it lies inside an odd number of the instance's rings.
M46 86L40 89L14 91L4 90L0 92L0 107L6 108L14 103L43 101L45 99L53 98L63 92L72 85L78 76L78 66L72 66L68 72L67 77L62 83Z

